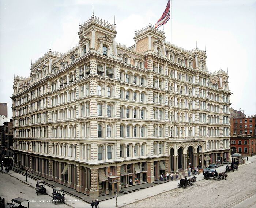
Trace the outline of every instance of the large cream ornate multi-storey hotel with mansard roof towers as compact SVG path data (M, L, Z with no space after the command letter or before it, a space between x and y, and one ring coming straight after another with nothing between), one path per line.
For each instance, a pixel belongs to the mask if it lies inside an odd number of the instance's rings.
M91 197L230 159L228 74L148 25L131 47L94 15L79 44L14 79L14 165Z

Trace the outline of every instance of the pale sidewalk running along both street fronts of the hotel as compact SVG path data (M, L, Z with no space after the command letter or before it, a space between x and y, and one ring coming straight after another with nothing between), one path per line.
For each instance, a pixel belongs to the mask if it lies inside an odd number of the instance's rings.
M256 156L253 156L252 159L256 159ZM246 160L246 164L249 164L249 163L251 163L251 161ZM246 164L244 164L244 165L246 165ZM243 166L243 165L240 165L240 166ZM220 166L220 167L217 168L218 173L225 172L225 171L226 171L226 166L225 165ZM7 174L23 181L24 183L27 183L30 186L35 188L36 180L33 180L31 178L27 178L28 182L25 182L26 178L23 175L19 174L19 173L15 173L13 170L11 172L7 173ZM194 175L191 174L191 176L187 177L187 178L189 179L189 178L192 178L193 176ZM199 175L196 175L196 177L197 177L196 181L204 180L203 173L200 173ZM180 181L179 179L178 179L178 181L175 181L175 180L174 181L168 181L166 183L162 183L162 184L159 184L159 185L154 185L153 187L140 189L138 191L123 194L121 196L119 195L118 198L117 198L118 207L123 207L124 205L134 203L135 201L140 201L140 200L143 200L143 199L147 199L149 197L161 194L163 192L167 192L167 191L176 189L177 184L179 183L179 181ZM46 193L51 197L52 196L52 188L47 186L47 185L45 187L46 187ZM70 195L68 195L68 193L65 194L65 198L67 199L66 204L70 207L74 207L74 208L89 207L88 203L82 201L81 199L77 199L73 196L70 196ZM100 201L99 206L101 208L115 207L116 206L116 198Z

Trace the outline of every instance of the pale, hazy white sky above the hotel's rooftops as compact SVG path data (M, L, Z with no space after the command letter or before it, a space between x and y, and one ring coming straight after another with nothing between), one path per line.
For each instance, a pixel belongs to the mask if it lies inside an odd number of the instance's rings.
M167 0L0 0L0 102L12 117L14 75L29 76L30 63L51 49L78 44L81 23L94 15L114 23L116 41L134 44L134 30L155 24ZM172 23L172 32L171 32ZM160 28L163 30L163 27ZM187 50L205 49L208 71L227 70L231 107L256 113L256 0L172 0L165 36Z

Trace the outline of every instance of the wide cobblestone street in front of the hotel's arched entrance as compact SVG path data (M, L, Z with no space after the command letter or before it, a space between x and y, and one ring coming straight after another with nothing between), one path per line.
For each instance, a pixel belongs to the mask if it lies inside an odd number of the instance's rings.
M252 159L251 164L228 173L227 180L201 180L185 190L174 189L125 207L233 207L255 195L255 187L256 159Z

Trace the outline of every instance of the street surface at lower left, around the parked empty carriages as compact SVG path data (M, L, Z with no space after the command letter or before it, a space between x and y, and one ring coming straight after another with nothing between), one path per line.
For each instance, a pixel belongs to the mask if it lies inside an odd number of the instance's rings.
M22 181L0 171L0 196L5 198L5 208L7 202L11 202L12 199L21 197L30 200L29 207L42 207L42 208L57 208L67 207L67 205L59 203L56 205L52 204L51 197L49 195L35 193L35 189L30 185L23 183ZM27 202L23 202L27 206ZM22 204L23 204L22 203Z

